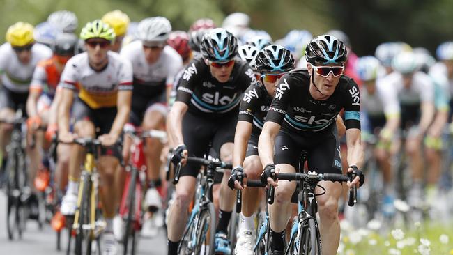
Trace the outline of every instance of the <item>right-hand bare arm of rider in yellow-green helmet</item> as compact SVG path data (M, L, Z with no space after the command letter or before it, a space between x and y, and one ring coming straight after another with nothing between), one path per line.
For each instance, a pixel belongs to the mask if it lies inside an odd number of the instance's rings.
M125 123L128 122L131 101L132 91L118 91L118 101L116 102L116 109L118 111L116 112L115 120L109 133L116 139L123 132Z

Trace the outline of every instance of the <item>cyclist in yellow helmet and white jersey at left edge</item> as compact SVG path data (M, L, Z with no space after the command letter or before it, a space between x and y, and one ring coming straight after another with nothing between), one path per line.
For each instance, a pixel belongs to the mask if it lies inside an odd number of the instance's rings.
M15 111L23 107L25 115L26 98L33 70L38 61L52 56L52 50L41 44L35 44L33 26L17 22L6 31L6 43L0 46L0 119L13 119ZM6 166L6 145L10 142L10 125L0 124L0 146L2 153L2 171ZM34 176L30 176L33 180ZM33 185L31 185L33 188Z

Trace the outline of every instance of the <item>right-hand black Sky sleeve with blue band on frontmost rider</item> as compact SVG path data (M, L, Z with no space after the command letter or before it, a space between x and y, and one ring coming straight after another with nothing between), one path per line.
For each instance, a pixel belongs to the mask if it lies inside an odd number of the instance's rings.
M346 129L358 128L360 129L360 92L358 85L353 79L349 79L348 95L344 95L344 121Z

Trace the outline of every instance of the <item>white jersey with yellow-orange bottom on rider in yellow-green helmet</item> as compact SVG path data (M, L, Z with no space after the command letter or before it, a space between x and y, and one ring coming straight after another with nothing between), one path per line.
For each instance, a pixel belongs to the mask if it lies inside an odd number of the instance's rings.
M88 53L73 56L59 86L79 91L79 98L92 109L116 107L118 90L132 90L132 65L116 52L107 52L107 57L107 66L97 72L89 65Z

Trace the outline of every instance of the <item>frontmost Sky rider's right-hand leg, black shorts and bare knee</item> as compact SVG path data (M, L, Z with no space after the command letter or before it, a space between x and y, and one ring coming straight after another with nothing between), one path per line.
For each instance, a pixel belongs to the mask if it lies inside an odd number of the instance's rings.
M339 141L336 130L321 139L314 139L318 142L308 154L309 169L316 169L318 173L339 173L341 174L341 158L339 153ZM324 139L323 139L324 138ZM321 182L325 188L325 194L317 196L318 212L321 219L321 246L323 254L337 254L339 245L339 219L338 201L341 196L341 183ZM316 187L316 193L321 193L321 189Z

